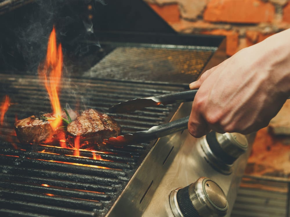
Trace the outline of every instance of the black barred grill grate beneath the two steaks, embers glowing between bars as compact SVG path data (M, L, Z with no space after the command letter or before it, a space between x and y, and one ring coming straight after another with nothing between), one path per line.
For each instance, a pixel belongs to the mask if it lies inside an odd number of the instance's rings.
M105 216L131 179L153 143L127 147L80 150L45 144L21 145L14 132L15 117L23 119L51 112L37 76L0 74L0 100L8 95L10 107L0 126L1 216ZM133 98L183 89L180 85L66 78L61 105L76 110L108 107ZM122 133L147 130L172 117L175 106L146 108L130 114L110 114Z

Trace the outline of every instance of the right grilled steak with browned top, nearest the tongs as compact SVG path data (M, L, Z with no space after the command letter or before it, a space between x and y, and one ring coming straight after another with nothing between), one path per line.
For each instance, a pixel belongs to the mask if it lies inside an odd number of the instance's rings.
M120 132L121 127L114 119L94 109L83 111L67 126L70 144L74 144L77 136L79 136L80 144L95 144L108 137L117 136Z

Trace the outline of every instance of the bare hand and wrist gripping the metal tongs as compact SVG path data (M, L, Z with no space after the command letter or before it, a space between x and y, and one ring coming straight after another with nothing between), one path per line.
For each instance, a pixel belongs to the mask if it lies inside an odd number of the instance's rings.
M199 88L188 124L194 137L267 126L290 96L290 29L240 50L189 87Z

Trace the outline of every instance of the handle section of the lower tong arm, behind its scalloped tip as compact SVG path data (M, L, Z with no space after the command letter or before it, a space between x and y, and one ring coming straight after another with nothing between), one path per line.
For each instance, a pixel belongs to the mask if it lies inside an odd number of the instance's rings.
M187 129L189 116L177 119L175 121L162 124L159 126L153 126L149 130L139 131L133 134L136 142L142 141L151 141L160 137L164 137L173 133L176 133L181 130ZM138 138L138 139L137 139Z

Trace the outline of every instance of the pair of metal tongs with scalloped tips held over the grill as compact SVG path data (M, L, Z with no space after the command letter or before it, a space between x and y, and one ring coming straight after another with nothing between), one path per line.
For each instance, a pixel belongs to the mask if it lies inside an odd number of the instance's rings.
M125 113L139 110L144 107L158 106L160 104L165 106L174 103L191 102L193 101L196 93L197 90L186 90L177 93L168 93L164 95L128 100L110 107L109 112ZM139 131L133 134L125 134L117 137L110 137L108 139L104 139L104 144L126 146L148 142L187 129L188 120L189 116L177 119L167 124L153 126L149 130Z

